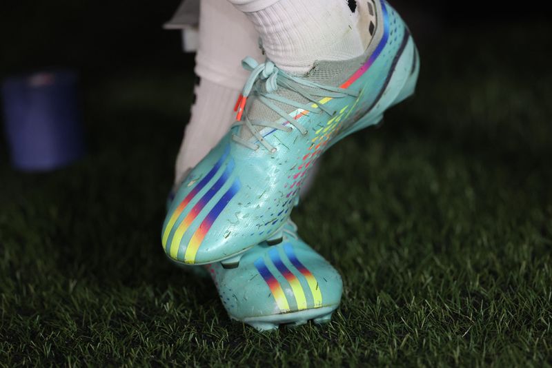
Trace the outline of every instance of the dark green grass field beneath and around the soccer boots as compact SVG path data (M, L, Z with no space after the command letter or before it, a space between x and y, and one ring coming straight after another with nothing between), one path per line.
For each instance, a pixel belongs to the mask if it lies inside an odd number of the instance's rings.
M2 151L0 365L551 365L552 32L470 32L422 45L415 99L324 157L293 219L342 306L273 334L161 249L192 76L90 82L85 159Z

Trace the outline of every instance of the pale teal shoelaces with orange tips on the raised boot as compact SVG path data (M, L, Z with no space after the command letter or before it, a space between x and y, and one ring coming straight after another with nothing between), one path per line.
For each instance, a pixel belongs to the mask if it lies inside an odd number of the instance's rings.
M332 99L342 98L345 96L357 97L359 94L359 92L354 90L331 87L328 85L319 85L311 81L306 81L305 79L297 76L287 74L283 70L278 69L272 61L266 61L265 63L259 64L255 61L255 59L246 57L246 59L242 61L242 66L246 70L250 70L251 74L249 75L249 78L244 85L244 90L236 103L235 111L237 111L237 121L234 123L233 127L243 126L245 129L249 130L249 132L255 136L257 141L259 141L259 143L261 143L269 152L276 152L277 149L273 145L270 145L270 143L268 143L263 136L259 134L260 129L257 129L257 127L270 127L276 130L284 130L285 132L292 132L293 128L271 121L257 119L250 120L247 116L244 116L243 113L249 96L257 96L258 100L266 105L267 108L273 110L279 116L282 116L285 121L293 125L301 134L304 135L307 134L305 127L295 119L290 119L289 114L282 110L282 108L279 108L274 101L290 105L294 108L306 110L308 112L316 114L326 113L332 116L335 114L335 111L328 109L325 105L319 104L318 101L320 99L324 97ZM258 80L265 81L264 87L263 83L257 83ZM299 103L297 101L279 96L278 94L275 94L278 88L286 88L296 92L308 100L309 103ZM248 139L243 139L237 134L233 134L232 139L237 143L250 148L251 150L259 149L259 145L251 143Z

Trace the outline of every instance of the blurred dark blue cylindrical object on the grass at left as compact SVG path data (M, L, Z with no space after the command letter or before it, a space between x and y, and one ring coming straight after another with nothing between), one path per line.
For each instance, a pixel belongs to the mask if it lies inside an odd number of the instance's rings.
M2 85L2 97L14 167L53 170L83 155L75 72L10 77Z

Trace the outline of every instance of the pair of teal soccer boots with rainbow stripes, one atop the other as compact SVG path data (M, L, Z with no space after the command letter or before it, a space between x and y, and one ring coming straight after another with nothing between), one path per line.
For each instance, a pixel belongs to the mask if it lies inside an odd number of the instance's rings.
M415 90L419 57L400 16L384 0L357 9L376 19L360 57L317 61L302 76L244 59L237 122L181 183L164 221L166 254L206 265L230 317L260 330L330 320L341 277L297 236L290 212L323 152Z

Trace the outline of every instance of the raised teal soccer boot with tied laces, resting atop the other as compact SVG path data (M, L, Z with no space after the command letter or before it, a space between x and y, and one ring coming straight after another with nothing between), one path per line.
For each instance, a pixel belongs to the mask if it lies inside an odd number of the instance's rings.
M184 179L166 216L161 238L170 258L234 267L254 245L282 241L319 156L413 94L420 62L408 28L384 0L357 9L376 19L360 57L317 61L302 76L244 59L252 72L238 121Z

